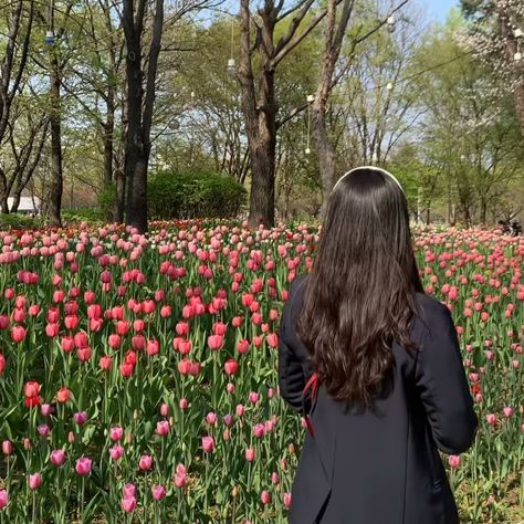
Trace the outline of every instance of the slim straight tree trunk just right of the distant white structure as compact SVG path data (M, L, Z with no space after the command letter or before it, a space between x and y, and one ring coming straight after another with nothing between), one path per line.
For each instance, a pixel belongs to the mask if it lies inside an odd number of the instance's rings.
M60 86L61 72L56 51L51 54L51 184L49 190L49 223L53 227L62 227L62 193L63 193L63 172L62 172L62 129L61 129L61 107L60 107Z

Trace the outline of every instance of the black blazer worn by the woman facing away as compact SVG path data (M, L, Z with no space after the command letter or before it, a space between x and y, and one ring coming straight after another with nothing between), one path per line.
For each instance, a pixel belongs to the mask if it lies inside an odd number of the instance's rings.
M294 323L307 275L294 280L279 344L282 397L307 412L312 375ZM292 489L292 524L455 524L457 505L438 449L459 454L478 426L449 310L417 293L419 350L392 345L389 394L374 410L344 410L319 385ZM358 305L356 305L358 307ZM306 397L307 399L307 397Z

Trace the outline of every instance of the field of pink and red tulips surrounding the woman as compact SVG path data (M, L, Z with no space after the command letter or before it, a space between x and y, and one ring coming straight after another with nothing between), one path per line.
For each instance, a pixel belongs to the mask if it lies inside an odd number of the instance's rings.
M0 232L0 523L285 523L305 430L279 396L279 322L318 234ZM518 523L524 239L416 229L415 243L480 420L473 448L443 457L462 522Z

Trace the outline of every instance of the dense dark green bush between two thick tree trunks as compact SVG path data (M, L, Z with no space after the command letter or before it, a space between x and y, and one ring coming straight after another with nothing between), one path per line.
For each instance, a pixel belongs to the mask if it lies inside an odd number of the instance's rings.
M232 218L247 195L241 184L224 175L160 171L148 184L149 218Z

